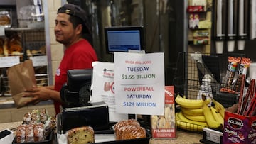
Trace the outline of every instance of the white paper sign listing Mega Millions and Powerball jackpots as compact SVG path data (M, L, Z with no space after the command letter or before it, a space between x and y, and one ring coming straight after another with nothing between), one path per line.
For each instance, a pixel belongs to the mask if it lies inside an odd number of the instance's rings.
M114 52L117 113L164 114L164 53Z

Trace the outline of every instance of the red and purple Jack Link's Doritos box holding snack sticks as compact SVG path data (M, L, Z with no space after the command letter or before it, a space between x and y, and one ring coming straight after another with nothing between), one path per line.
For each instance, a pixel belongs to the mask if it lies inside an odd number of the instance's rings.
M225 111L223 143L256 143L256 116L241 116Z

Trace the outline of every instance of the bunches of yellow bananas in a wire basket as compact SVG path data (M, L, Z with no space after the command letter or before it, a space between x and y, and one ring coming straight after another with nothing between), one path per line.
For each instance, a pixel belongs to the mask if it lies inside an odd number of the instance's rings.
M176 96L181 111L176 112L176 125L188 131L203 131L203 128L221 129L225 108L214 99L186 99Z

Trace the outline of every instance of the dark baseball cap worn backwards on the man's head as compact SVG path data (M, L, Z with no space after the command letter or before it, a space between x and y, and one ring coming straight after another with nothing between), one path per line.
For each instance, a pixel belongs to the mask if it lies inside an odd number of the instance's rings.
M58 9L57 14L58 13L66 13L70 16L80 18L83 21L83 32L91 33L89 23L87 20L87 13L85 12L85 10L80 8L80 6L76 6L74 4L64 4Z

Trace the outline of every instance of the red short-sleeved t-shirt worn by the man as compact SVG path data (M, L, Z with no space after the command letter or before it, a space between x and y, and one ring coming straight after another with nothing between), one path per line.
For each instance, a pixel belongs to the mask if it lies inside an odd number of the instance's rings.
M92 62L97 61L97 55L90 43L83 39L71 45L64 52L60 66L55 73L55 90L60 92L63 84L67 82L67 72L73 69L92 68ZM55 113L60 113L60 103L54 102Z

